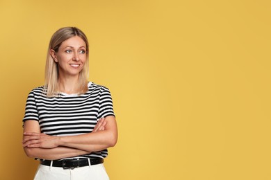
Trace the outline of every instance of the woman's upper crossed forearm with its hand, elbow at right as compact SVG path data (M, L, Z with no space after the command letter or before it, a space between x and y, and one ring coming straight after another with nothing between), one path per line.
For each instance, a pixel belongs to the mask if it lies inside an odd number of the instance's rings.
M103 126L101 123L102 129L76 136L48 136L46 134L26 132L24 133L24 147L54 148L65 146L88 152L104 150L115 146L117 143L115 116L106 116L104 124Z

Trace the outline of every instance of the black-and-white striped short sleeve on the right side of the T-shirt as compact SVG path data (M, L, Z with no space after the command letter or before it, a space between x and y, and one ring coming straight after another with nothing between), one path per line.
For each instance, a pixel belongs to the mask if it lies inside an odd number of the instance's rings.
M113 111L113 100L109 89L101 87L98 118L105 118L106 116L115 116Z

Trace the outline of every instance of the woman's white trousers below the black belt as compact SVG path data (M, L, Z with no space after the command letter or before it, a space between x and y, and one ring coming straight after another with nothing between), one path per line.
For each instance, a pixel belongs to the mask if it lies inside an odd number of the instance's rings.
M66 169L39 165L34 180L108 180L104 164Z

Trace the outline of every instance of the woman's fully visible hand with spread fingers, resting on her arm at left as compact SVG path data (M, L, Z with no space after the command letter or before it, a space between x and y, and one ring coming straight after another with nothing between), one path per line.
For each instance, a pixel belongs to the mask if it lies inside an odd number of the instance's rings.
M58 136L49 136L43 133L24 132L23 147L58 147Z

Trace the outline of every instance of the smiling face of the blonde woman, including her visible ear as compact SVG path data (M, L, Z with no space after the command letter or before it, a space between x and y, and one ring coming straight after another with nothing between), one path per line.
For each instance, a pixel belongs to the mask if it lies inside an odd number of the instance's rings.
M78 76L87 60L86 51L85 42L78 36L65 40L58 52L51 50L51 56L58 63L59 77Z

